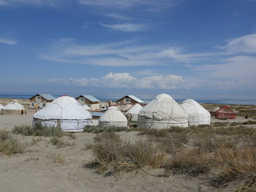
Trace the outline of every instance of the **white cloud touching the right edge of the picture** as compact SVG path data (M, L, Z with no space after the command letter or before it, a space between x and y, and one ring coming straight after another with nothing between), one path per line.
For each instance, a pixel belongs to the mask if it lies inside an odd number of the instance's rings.
M255 54L256 34L248 34L240 38L234 38L227 42L226 46L219 47L226 54Z

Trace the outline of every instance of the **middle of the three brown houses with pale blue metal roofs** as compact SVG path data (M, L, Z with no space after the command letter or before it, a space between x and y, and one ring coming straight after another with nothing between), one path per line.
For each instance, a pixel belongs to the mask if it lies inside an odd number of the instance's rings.
M81 105L87 105L90 107L91 110L99 110L101 107L99 105L100 100L98 98L94 98L94 96L90 94L82 94L75 98Z

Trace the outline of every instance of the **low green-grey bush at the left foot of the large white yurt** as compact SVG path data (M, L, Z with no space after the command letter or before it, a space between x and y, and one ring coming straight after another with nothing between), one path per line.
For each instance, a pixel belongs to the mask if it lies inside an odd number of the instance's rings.
M14 134L22 134L25 136L44 136L44 137L54 137L54 136L61 136L62 129L57 126L42 126L41 122L36 122L34 127L32 126L14 126L12 130Z

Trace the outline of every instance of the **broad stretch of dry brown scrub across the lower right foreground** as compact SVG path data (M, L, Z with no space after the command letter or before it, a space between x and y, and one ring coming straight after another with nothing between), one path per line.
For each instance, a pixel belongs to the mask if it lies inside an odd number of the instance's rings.
M254 124L254 122L245 122ZM244 124L244 125L245 125ZM214 175L216 187L241 183L235 192L254 191L256 186L256 130L246 126L192 126L168 130L136 129L145 141L123 142L118 134L97 134L90 145L91 165L105 174L138 172L164 167L165 174L196 177Z

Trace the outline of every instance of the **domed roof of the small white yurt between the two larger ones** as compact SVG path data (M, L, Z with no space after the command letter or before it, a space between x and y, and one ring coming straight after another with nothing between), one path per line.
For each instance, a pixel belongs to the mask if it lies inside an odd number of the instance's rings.
M110 106L98 119L99 122L127 122L127 118L116 106Z

